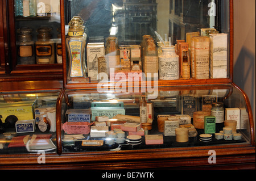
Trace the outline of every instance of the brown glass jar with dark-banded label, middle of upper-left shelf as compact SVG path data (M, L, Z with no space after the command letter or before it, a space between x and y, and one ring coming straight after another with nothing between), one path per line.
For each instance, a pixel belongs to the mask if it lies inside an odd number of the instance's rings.
M55 50L54 41L51 40L52 29L48 27L38 28L38 41L36 47L36 64L54 64Z

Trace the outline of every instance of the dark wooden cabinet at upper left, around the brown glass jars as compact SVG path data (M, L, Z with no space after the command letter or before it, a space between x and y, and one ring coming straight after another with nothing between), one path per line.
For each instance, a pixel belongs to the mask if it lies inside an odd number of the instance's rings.
M21 7L22 1L2 1L1 2L1 81L37 81L44 79L57 79L61 80L62 74L62 64L57 64L56 55L53 51L56 49L55 45L57 42L57 28L60 28L60 22L58 22L59 12L56 14L38 16L30 15L23 17L22 15L15 12L15 7ZM34 2L34 1L33 1ZM32 1L31 1L32 3ZM56 6L59 3L56 3ZM38 7L39 9L41 7ZM34 7L36 10L36 5ZM54 19L55 18L55 19ZM36 30L40 27L51 27L52 37L51 39L55 41L52 47L52 54L55 56L55 62L53 64L38 64L36 62L36 48L35 45L32 47L32 62L23 63L20 61L20 56L18 54L18 28L28 27L32 28L32 41L34 43L38 40ZM54 51L56 52L56 50Z

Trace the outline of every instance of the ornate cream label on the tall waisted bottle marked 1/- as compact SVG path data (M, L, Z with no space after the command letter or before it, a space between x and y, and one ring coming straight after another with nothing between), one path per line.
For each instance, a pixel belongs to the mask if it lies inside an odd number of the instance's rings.
M81 64L81 52L82 41L69 41L69 48L71 50L71 73L70 77L82 77L82 64Z

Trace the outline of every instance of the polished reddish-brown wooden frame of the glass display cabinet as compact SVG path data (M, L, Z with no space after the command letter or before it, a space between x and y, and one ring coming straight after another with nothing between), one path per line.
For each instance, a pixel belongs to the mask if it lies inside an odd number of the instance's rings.
M9 6L10 7L10 6ZM61 39L65 40L64 32L64 0L61 7ZM10 17L9 17L10 19ZM1 31L0 31L1 32ZM250 123L250 144L195 146L189 148L141 149L122 151L89 151L63 153L61 144L61 104L65 103L65 89L95 89L96 83L67 83L67 64L63 61L63 86L56 106L56 137L57 153L46 154L46 164L38 164L37 154L0 155L2 169L255 169L255 131L253 113L247 95L233 83L233 0L230 0L230 72L224 79L193 79L177 81L159 81L161 87L180 87L184 85L214 87L232 85L238 89L246 102ZM62 41L63 60L66 60L65 41ZM52 82L54 83L54 82ZM139 85L141 85L140 82ZM40 82L39 82L39 85ZM109 84L111 86L111 83ZM49 86L49 85L48 85ZM39 86L43 89L42 86ZM24 88L17 87L18 90ZM216 151L217 163L209 164L209 150Z

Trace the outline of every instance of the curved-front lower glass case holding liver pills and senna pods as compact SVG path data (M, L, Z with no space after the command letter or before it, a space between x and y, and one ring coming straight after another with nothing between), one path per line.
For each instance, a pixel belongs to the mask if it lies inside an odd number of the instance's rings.
M251 144L246 102L236 87L144 90L66 90L61 111L63 153ZM222 106L216 109L216 103Z

